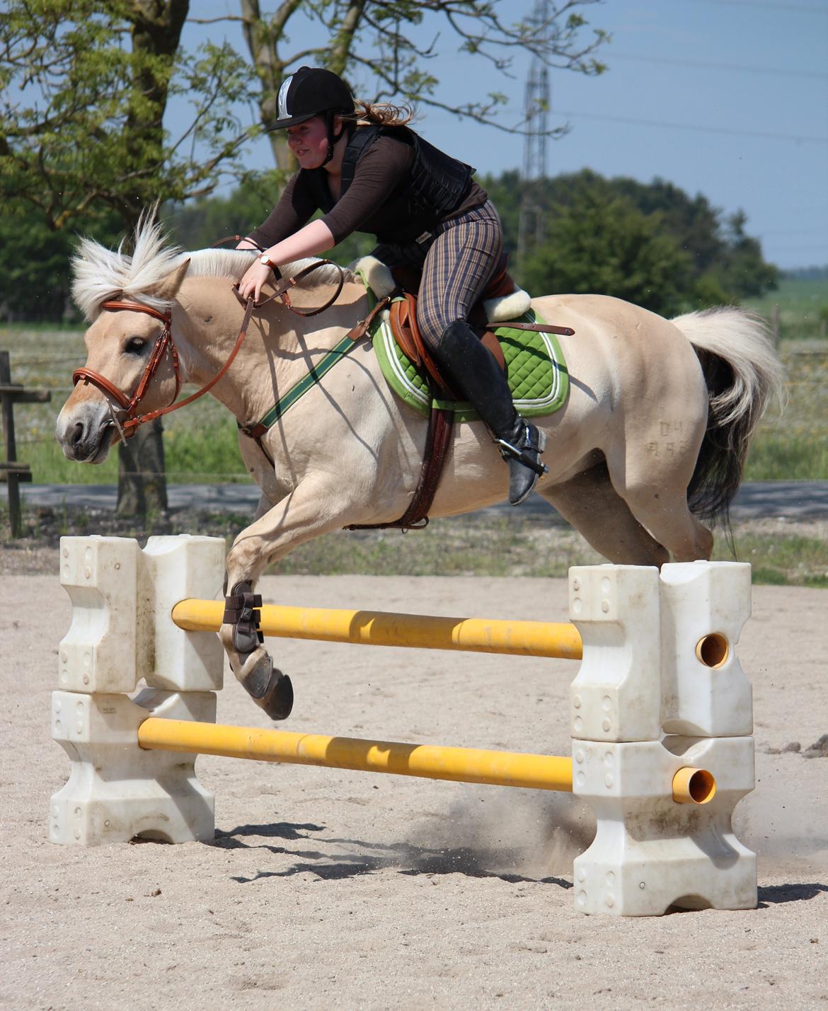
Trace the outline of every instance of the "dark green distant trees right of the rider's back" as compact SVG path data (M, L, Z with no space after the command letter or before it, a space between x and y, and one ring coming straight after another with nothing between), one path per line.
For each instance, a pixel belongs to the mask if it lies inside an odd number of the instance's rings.
M516 276L533 292L594 291L669 315L776 284L742 212L725 219L705 196L662 179L606 179L584 169L524 183L510 171L481 184L503 221ZM533 212L519 262L522 201Z

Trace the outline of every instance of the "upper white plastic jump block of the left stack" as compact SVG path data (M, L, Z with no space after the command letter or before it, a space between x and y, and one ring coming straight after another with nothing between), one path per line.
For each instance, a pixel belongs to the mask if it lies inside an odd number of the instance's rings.
M64 691L129 693L144 678L171 692L221 687L224 652L212 632L185 632L173 607L220 592L220 537L61 538L61 582L72 625L58 649Z

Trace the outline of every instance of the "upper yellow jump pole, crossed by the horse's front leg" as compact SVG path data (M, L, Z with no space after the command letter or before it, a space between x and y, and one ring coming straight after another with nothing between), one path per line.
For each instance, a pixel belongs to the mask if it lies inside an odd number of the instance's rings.
M173 621L187 632L217 632L224 605L220 601L181 601ZM343 611L329 608L288 608L266 604L261 630L282 639L317 639L366 646L409 646L454 649L469 653L504 653L581 658L581 640L574 625L550 622L493 621L485 618L435 618L383 611Z

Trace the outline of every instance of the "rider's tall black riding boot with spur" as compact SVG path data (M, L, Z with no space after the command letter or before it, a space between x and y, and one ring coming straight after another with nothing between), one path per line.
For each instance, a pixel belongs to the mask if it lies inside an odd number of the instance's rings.
M545 443L542 433L515 409L500 366L464 319L443 331L434 354L452 387L471 402L494 436L509 463L509 500L520 505L548 470L538 459Z

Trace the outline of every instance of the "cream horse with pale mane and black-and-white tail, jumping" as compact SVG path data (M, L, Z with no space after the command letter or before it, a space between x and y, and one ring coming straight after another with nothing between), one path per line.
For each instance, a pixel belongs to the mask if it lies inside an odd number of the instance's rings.
M256 255L182 252L152 217L139 224L131 256L122 244L112 251L83 240L73 295L90 323L87 361L56 430L69 459L101 463L122 435L130 402L146 419L168 407L182 382L209 386L237 419L242 458L262 491L254 521L226 556L224 591L242 594L311 538L399 518L418 484L428 428L391 392L362 340L266 433L251 434L369 312L364 284L346 272L339 296L316 315L297 315L278 299L246 313L233 285ZM289 264L282 274L313 265ZM340 268L315 266L302 285L319 304L330 300ZM780 390L764 323L733 306L667 320L597 294L546 295L532 304L574 332L560 338L567 399L535 419L548 467L537 493L611 562L709 559L713 534L702 520L727 519L751 436ZM483 424L457 425L430 518L501 501L508 485L509 469ZM227 601L242 608L255 598ZM289 680L260 639L234 634L240 614L225 612L219 632L231 667L268 715L282 718L292 704Z

